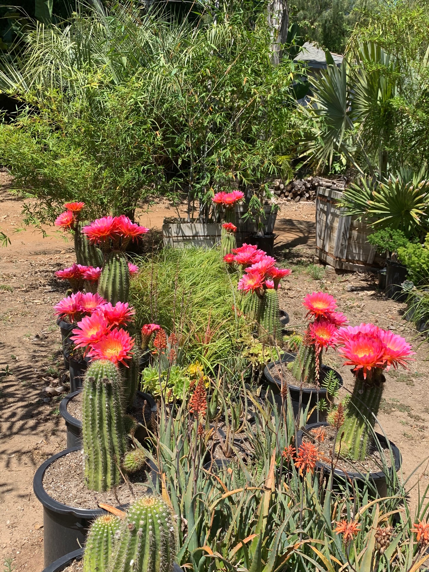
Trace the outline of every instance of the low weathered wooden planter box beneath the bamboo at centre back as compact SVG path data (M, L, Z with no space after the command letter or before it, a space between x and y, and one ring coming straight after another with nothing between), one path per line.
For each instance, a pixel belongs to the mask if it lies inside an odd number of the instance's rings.
M236 205L237 246L245 243L249 236L257 232L257 225L251 220L243 220L247 205ZM272 233L277 217L277 209L271 212L271 204L264 205L265 216L261 221L265 233ZM175 248L205 247L211 248L220 243L220 223L187 223L178 219L164 219L162 236L164 246Z

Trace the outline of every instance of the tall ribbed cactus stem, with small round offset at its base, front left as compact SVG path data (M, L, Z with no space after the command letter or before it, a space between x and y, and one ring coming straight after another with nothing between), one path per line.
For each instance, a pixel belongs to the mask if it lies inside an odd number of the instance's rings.
M85 482L91 490L106 491L119 484L118 468L125 452L122 422L122 380L109 360L97 360L85 375L82 403L82 434Z

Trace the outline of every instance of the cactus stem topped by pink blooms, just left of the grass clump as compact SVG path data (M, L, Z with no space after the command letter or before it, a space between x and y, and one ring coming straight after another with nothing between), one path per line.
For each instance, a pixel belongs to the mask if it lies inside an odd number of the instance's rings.
M128 302L130 273L124 252L112 251L106 255L104 267L98 281L98 293L115 305Z

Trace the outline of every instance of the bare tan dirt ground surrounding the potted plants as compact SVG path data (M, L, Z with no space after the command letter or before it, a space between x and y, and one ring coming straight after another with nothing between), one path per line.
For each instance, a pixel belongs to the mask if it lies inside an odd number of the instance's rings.
M41 572L43 569L42 507L33 494L33 476L49 456L65 448L65 427L59 415L63 395L43 393L47 386L66 384L60 355L59 329L53 305L65 295L66 285L54 271L74 261L72 244L61 232L46 228L45 239L29 228L21 228L23 201L7 192L10 180L0 172L0 230L11 245L0 251L0 463L1 510L0 551L6 571ZM181 212L183 210L181 209ZM160 229L164 216L176 210L160 203L140 213L140 223ZM293 273L280 291L281 305L291 316L291 325L304 323L301 300L322 285L336 296L339 309L352 325L374 321L392 328L418 345L416 360L408 372L391 372L384 392L380 422L399 446L404 477L428 454L429 380L428 346L412 327L401 320L404 304L378 293L368 275L332 276L313 265L315 205L284 203L275 228L276 256ZM327 362L341 372L345 387L352 387L352 375L338 361ZM412 478L420 488L429 483L427 463ZM411 493L415 502L416 491Z

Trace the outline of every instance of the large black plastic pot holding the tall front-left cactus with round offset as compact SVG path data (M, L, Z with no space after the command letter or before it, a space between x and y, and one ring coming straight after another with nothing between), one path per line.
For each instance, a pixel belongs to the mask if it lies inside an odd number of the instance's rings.
M47 467L54 460L73 451L79 451L81 447L73 447L60 451L51 456L37 469L33 479L33 490L43 505L43 546L45 566L49 566L65 554L84 546L88 527L92 521L102 514L107 514L102 509L78 509L63 505L55 501L43 488L43 475ZM156 483L158 470L154 464L148 461L151 468L152 482ZM122 507L124 508L124 507Z

